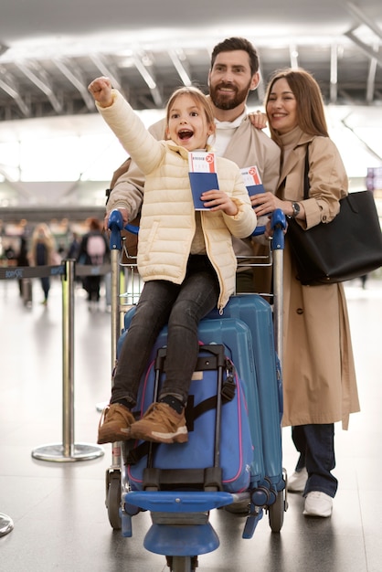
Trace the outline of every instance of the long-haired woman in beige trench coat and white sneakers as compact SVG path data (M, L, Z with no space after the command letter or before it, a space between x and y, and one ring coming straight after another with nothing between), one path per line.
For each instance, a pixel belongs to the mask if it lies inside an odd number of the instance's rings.
M281 208L302 228L328 223L347 194L345 167L329 138L320 88L303 69L278 71L266 94L271 137L281 147L276 196L256 196L258 217ZM310 195L303 199L309 149ZM355 365L342 284L302 286L286 233L284 250L283 426L292 426L300 453L289 490L302 492L305 515L330 516L337 480L332 471L334 423L347 429L359 410Z

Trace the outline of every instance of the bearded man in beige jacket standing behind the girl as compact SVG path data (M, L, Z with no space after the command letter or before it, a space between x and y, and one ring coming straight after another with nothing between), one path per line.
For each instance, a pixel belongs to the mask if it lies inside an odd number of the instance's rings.
M250 90L256 90L260 81L259 58L256 49L245 38L230 37L212 51L208 72L209 96L217 124L214 141L216 153L234 161L240 168L256 165L266 191L275 193L280 174L280 148L264 132L255 129L246 109ZM164 121L150 128L157 139L164 139ZM124 165L124 166L123 166ZM107 203L107 215L118 208L123 220L133 220L139 214L143 200L143 175L133 163L127 161L115 175L120 175ZM115 179L115 176L114 176ZM251 238L234 238L235 253L241 264L253 256ZM237 291L254 291L253 272L248 267L238 269ZM260 291L256 283L256 290Z

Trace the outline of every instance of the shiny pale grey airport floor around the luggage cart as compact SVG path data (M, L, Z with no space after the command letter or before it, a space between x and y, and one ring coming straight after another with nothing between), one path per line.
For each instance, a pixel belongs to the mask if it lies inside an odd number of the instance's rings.
M213 511L218 550L199 557L200 572L380 572L382 569L382 283L346 286L362 412L336 429L339 491L328 519L302 516L290 494L280 535L264 517L250 540L243 518ZM112 532L104 505L110 446L92 461L37 461L31 453L62 437L62 319L59 280L48 307L25 308L16 282L0 281L0 512L14 530L0 538L2 572L161 572L164 556L143 548L149 514L133 519L133 538ZM110 392L110 314L89 312L82 291L75 311L75 443L95 438L96 405ZM290 429L283 464L293 470Z

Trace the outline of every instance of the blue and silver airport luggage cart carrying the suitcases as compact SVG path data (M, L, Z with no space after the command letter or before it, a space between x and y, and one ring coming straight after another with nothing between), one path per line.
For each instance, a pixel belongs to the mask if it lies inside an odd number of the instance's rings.
M193 572L198 566L197 556L218 548L218 535L209 523L209 513L212 509L231 507L230 512L239 512L243 506L248 507L242 534L246 539L252 537L264 512L269 516L271 531L279 533L284 512L287 510L286 473L281 461L282 256L283 233L286 228L285 217L281 210L273 213L271 227L274 235L270 245L270 257L269 260L260 260L260 265L272 267L272 309L271 305L258 294L233 296L232 304L228 303L228 317L249 322L254 344L258 343L256 337L259 335L263 337L264 333L261 330L263 323L261 316L259 323L255 325L250 323L251 302L258 307L256 314L264 312L272 314L271 337L268 332L272 344L270 351L274 352L275 361L279 366L276 367L275 376L271 379L271 393L269 388L264 389L270 385L269 380L262 384L264 387L260 388L259 395L256 393L255 397L251 397L249 392L249 411L251 399L259 400L258 406L267 409L263 410L263 415L260 416L263 417L260 430L267 433L267 439L261 443L263 459L259 472L262 474L254 477L249 490L244 493L228 493L223 490L211 492L132 490L124 466L127 454L126 442L112 444L112 463L106 471L106 506L111 527L114 530L122 530L123 536L130 537L133 535L133 516L140 511L150 511L153 524L145 535L143 546L151 552L166 556L167 566L173 572ZM111 230L111 366L114 367L118 354L118 341L125 329L126 312L138 302L143 284L136 269L136 259L124 247L122 216L119 211L111 213L109 228ZM125 229L138 233L137 228L129 225ZM259 265L256 262L254 264ZM207 318L210 320L216 318L213 313ZM257 376L261 376L261 365L259 367L260 373L257 373ZM261 385L259 380L257 383ZM271 420L268 415L270 401ZM235 510L235 507L238 507L238 510Z

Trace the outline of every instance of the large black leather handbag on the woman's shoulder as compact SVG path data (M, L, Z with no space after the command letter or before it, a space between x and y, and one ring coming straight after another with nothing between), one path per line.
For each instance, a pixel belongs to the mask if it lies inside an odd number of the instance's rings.
M305 157L304 198L309 197L309 158ZM304 285L331 284L363 276L382 266L382 232L371 191L350 193L340 200L330 223L304 230L292 218L287 238Z

